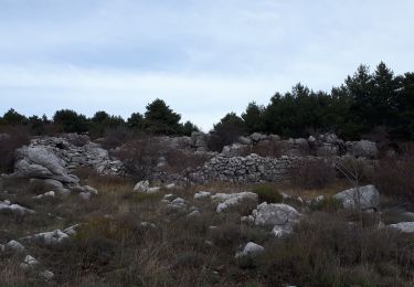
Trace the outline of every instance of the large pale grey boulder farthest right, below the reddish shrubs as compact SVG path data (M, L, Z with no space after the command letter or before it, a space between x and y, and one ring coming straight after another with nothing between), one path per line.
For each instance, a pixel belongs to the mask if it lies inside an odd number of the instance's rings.
M333 195L340 200L344 209L369 210L378 209L380 205L380 192L374 185L365 185L341 191Z

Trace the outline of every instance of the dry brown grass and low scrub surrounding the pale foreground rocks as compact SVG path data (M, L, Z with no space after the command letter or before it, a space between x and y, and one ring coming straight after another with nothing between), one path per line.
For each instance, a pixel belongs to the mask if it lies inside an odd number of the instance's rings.
M197 191L240 192L253 185L213 183L206 187L134 193L134 183L117 178L85 176L83 184L99 191L89 201L77 194L33 200L44 192L28 182L3 182L1 200L31 208L35 214L0 214L0 243L29 234L82 223L76 236L57 246L25 244L28 253L55 277L44 281L24 273L21 255L1 256L0 286L413 286L414 237L380 230L379 214L322 206L297 208L306 217L290 238L275 238L269 228L241 223L251 209L215 212L210 201L194 201ZM346 188L304 190L289 183L272 189L302 199L330 196ZM161 202L173 193L201 213L172 212ZM11 195L14 194L14 195ZM330 204L330 203L328 203ZM358 224L349 224L357 221ZM142 226L142 222L155 226ZM214 226L214 227L212 227ZM241 245L265 247L257 257L236 259Z

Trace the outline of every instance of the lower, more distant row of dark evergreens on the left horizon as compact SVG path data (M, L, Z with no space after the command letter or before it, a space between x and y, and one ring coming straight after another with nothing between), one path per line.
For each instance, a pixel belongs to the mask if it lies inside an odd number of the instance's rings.
M126 120L106 111L97 111L91 118L72 109L57 110L52 119L25 117L14 109L9 109L0 117L0 126L25 126L32 135L50 135L54 132L88 134L93 138L104 137L115 129L147 132L151 135L190 136L199 128L191 121L180 123L181 115L174 113L162 99L157 98L148 104L145 114L132 113Z

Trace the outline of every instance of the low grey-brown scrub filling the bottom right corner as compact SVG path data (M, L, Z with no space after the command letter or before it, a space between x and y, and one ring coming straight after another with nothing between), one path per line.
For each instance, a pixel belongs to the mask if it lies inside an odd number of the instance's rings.
M259 265L270 286L408 286L413 255L407 237L317 212L290 238L268 244Z

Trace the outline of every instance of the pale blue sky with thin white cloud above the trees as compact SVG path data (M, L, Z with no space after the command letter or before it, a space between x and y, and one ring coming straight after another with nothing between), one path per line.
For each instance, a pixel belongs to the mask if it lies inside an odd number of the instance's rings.
M0 0L0 114L128 117L159 97L204 130L361 63L414 71L413 0Z

